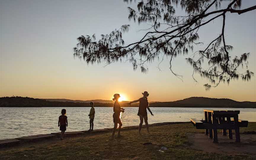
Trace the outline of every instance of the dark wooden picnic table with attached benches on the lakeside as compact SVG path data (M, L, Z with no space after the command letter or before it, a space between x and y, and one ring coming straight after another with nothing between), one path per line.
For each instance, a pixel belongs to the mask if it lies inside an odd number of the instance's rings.
M204 110L204 120L190 118L191 123L196 126L196 129L205 129L205 135L213 138L213 143L218 143L217 130L223 130L223 135L227 135L232 139L232 130L236 133L236 142L240 142L239 127L247 127L247 120L239 120L239 110Z

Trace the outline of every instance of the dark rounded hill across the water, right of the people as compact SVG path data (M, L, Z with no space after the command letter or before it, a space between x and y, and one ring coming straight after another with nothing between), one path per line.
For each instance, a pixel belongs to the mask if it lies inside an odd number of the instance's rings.
M232 99L217 99L206 97L190 97L173 102L150 103L151 107L233 107L255 108L256 102L237 102Z

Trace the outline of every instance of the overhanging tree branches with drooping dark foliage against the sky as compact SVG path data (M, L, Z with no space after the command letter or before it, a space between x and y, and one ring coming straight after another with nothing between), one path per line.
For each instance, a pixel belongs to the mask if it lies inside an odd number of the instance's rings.
M129 25L123 25L120 29L110 34L101 35L100 40L95 40L95 35L80 36L79 43L74 48L74 56L83 58L87 63L106 62L110 64L122 59L129 60L134 69L140 67L142 72L147 72L146 62L155 59L170 57L171 62L178 55L185 55L189 50L193 51L199 41L200 27L207 25L217 18L223 19L222 29L216 37L208 42L206 48L196 51L193 58L186 61L193 67L193 75L209 79L211 84L205 84L206 89L217 86L220 82L229 83L231 79L248 81L253 73L247 70L239 73L239 66L248 65L249 53L243 53L240 57L231 59L232 46L225 42L225 17L226 14L243 14L256 9L256 6L239 10L242 0L145 0L136 2L124 0L127 3L137 3L137 9L128 7L128 19L141 23L151 23L151 27L137 42L125 45L122 33L129 30ZM175 14L175 7L181 7L185 15ZM165 56L163 56L165 55ZM208 62L208 67L202 67ZM172 71L175 76L180 76ZM193 79L196 79L193 76Z

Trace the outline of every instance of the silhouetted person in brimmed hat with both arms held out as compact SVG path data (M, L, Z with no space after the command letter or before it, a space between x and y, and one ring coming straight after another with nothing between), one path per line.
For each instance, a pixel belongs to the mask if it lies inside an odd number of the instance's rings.
M147 108L148 108L148 111L151 113L151 115L153 115L153 113L151 112L151 110L149 109L148 107L148 92L145 91L143 94L143 97L138 99L138 100L135 100L135 101L132 101L130 103L128 103L129 105L131 105L132 103L135 103L135 102L140 102L139 104L139 111L138 111L138 116L140 116L140 126L139 126L139 134L140 134L140 130L142 128L142 124L143 124L143 118L145 120L145 124L146 124L146 128L147 128L147 131L149 133L149 129L148 129L148 114L147 114Z

